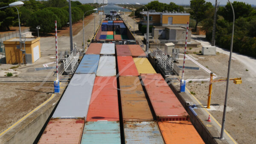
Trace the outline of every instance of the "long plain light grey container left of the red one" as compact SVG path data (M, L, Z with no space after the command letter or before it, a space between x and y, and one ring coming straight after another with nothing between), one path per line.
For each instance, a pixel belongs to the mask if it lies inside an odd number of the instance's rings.
M95 74L74 74L52 118L86 118Z

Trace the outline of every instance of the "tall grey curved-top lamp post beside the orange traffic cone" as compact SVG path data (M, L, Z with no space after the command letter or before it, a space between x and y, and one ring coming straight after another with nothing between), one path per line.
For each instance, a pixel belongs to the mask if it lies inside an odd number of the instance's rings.
M226 109L227 109L227 94L228 94L228 85L229 85L229 79L230 79L230 67L231 67L231 58L232 58L232 50L233 50L233 37L234 37L234 27L235 27L235 12L232 6L232 3L230 0L228 2L231 5L232 12L233 12L233 29L232 29L232 37L231 37L231 44L230 44L230 58L228 61L228 69L227 69L227 86L226 86L226 94L225 94L225 101L224 101L224 109L223 109L223 117L222 117L222 124L221 124L221 140L224 140L223 134L224 134L224 127L225 127L225 119L226 119Z

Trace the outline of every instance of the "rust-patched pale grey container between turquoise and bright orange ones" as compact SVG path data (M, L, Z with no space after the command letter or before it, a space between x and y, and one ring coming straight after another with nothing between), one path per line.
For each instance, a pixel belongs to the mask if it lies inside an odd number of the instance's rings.
M125 144L164 144L155 121L128 121L124 123Z

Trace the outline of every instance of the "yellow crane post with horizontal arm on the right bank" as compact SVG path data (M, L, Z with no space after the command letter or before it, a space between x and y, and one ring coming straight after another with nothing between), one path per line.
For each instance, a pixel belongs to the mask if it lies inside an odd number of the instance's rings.
M207 107L206 107L207 109L210 108L210 103L211 103L212 83L219 82L219 81L227 81L227 78L219 79L219 80L212 80L213 76L221 77L221 76L218 76L218 75L213 75L212 72L210 74L209 94L208 94L208 102L207 102ZM224 77L221 77L221 78L224 78ZM242 84L241 78L231 78L230 80L233 81L235 84Z

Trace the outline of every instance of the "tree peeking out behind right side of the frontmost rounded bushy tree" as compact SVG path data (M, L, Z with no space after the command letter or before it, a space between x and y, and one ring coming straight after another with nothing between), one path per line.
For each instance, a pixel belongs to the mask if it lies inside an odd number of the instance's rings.
M61 25L58 28L63 27L67 22L68 22L68 12L65 11L64 9L61 8L53 8L53 7L49 7L49 8L44 8L47 9L51 12L53 12L54 14L56 14L56 16L61 20Z

